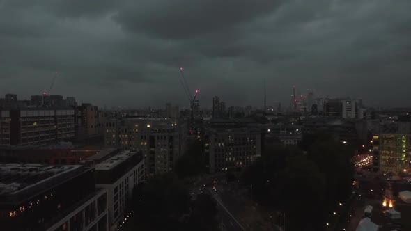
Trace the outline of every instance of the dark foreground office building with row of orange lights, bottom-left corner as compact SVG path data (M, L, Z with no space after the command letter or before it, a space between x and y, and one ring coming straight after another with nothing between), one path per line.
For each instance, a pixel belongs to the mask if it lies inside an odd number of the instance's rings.
M1 230L108 231L107 190L92 168L0 165Z

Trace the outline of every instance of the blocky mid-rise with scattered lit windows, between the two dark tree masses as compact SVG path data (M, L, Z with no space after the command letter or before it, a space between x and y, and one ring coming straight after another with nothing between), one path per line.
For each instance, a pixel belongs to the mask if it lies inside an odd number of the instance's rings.
M241 120L213 121L205 145L210 173L240 172L261 157L261 129Z

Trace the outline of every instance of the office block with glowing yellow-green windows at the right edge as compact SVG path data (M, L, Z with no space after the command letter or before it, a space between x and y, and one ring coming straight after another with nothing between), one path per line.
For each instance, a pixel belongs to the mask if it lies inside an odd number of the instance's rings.
M380 171L408 173L411 170L411 134L380 134Z

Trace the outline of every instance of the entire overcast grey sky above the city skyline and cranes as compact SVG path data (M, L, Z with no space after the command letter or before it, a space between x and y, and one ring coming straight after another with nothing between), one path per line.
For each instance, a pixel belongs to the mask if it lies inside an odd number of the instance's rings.
M0 0L0 95L100 106L288 106L297 93L411 106L410 0Z

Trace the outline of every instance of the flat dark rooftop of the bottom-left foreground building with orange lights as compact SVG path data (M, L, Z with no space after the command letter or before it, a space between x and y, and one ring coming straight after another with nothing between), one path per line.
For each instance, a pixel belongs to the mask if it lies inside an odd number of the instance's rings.
M81 166L47 166L42 164L0 164L0 196L32 188L72 172Z

